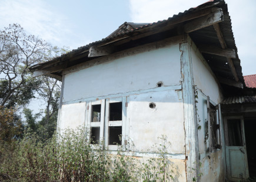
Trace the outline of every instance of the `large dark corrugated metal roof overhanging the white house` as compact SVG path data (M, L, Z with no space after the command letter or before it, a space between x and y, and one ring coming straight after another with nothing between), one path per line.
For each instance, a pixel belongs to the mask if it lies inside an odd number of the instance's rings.
M30 69L31 70L41 70L41 69L47 70L47 69L51 69L52 66L59 66L61 64L63 65L66 64L70 67L81 62L92 60L94 58L88 58L87 56L89 52L89 48L91 48L92 46L101 47L101 46L107 46L111 44L114 45L115 43L117 43L118 45L118 41L122 42L123 40L124 42L125 40L127 40L127 42L129 43L134 42L137 40L135 38L137 35L143 35L144 33L147 34L149 32L154 32L154 30L161 30L161 29L167 28L168 25L178 26L179 23L184 23L186 21L190 21L191 19L193 19L193 18L190 19L191 17L190 15L193 15L194 13L197 13L197 12L204 12L205 9L207 8L210 9L213 7L221 8L222 11L224 12L224 21L220 22L219 25L220 25L225 43L227 44L227 48L235 50L236 58L232 59L232 62L234 63L234 67L235 67L235 71L237 72L238 79L242 84L244 84L244 77L242 76L240 59L238 58L238 55L237 55L237 46L235 45L235 39L232 32L231 19L228 14L227 4L225 4L224 0L208 1L205 4L197 6L196 8L190 8L187 11L180 12L178 15L173 15L172 17L165 19L163 21L158 21L154 23L125 22L122 25L120 25L116 31L112 32L109 36L107 36L107 38L104 38L101 41L89 43L88 45L82 46L78 49L74 49L65 55L59 56L58 58L54 58L49 62L42 63L39 65L34 65ZM220 41L218 39L217 33L213 26L207 26L205 28L198 29L197 31L189 33L189 36L197 46L212 45L212 46L217 46L221 48ZM132 38L135 38L135 39L132 39ZM132 40L132 41L129 41L129 40ZM144 39L143 41L145 40L146 39ZM140 43L143 43L143 41L141 41ZM124 48L128 48L128 47L124 46ZM231 68L227 63L227 58L222 56L207 54L207 53L202 53L202 55L204 56L205 60L207 60L208 65L210 65L210 68L214 72L215 76L223 77L229 80L235 80L234 75L231 71ZM79 60L75 58L78 58ZM74 60L78 60L78 61L75 62ZM54 74L61 76L61 71L55 72ZM223 84L222 86L227 87L227 85L223 85ZM233 93L231 91L232 89L233 87L231 88L228 87L228 89L226 89L228 93L227 95L232 95Z

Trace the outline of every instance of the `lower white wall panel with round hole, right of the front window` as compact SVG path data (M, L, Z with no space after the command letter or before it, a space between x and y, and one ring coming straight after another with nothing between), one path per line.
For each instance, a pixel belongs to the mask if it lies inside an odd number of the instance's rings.
M155 103L155 109L149 103ZM185 131L183 101L178 92L148 92L129 96L129 136L137 151L152 151L154 144L161 143L158 137L167 136L171 142L169 153L185 155Z

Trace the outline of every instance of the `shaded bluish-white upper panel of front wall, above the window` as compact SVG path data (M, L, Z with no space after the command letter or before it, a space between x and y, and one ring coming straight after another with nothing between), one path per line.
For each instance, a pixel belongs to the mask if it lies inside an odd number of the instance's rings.
M180 57L177 43L68 73L63 102L151 89L159 81L180 85Z

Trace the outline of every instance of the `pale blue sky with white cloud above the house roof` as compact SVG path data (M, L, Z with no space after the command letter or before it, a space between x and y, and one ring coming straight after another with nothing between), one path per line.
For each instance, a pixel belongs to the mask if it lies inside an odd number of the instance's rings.
M19 23L56 46L77 49L124 22L157 22L207 0L0 0L0 28ZM227 0L243 75L256 73L255 0Z

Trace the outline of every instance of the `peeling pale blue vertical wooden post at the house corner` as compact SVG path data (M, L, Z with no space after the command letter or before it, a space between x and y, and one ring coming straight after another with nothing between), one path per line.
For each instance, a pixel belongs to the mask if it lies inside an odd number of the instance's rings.
M197 120L195 115L194 79L192 75L191 45L189 36L187 42L180 43L182 93L184 105L185 153L187 157L187 181L193 181L199 174Z

